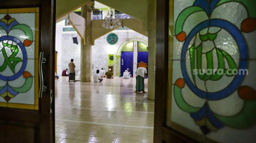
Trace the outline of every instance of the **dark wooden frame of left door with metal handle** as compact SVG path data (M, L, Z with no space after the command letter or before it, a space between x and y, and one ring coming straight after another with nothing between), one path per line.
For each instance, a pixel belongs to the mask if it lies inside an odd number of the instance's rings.
M55 142L55 107L54 107L54 54L55 54L55 11L56 0L1 0L0 8L25 8L39 7L39 51L44 52L47 64L43 64L45 86L47 90L43 92L43 98L39 98L39 110L14 109L0 107L0 124L23 125L25 127L39 127L36 130L36 143ZM49 50L50 47L53 47ZM51 62L50 62L51 61ZM35 73L36 74L36 73ZM47 80L46 80L47 79ZM36 86L36 85L35 85ZM53 90L53 112L50 113L50 89ZM25 111L25 112L24 112ZM17 119L17 116L19 118ZM36 122L39 123L36 124ZM50 125L50 128L49 128ZM47 131L47 132L46 132ZM40 138L43 137L43 138ZM45 138L46 137L46 138ZM49 138L48 138L49 137Z

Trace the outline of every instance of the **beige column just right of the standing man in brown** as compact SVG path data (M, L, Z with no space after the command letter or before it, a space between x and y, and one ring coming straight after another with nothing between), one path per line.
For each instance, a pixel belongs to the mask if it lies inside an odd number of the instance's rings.
M81 40L81 81L91 82L91 57L92 57L92 46L91 46L91 20L93 13L87 11L90 9L90 4L82 7L81 16L85 18L85 35L84 39Z

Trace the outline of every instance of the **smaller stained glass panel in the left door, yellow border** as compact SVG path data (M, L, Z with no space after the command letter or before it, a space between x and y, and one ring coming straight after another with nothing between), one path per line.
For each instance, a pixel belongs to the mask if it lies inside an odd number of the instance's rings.
M0 9L1 107L38 110L38 26L39 8Z

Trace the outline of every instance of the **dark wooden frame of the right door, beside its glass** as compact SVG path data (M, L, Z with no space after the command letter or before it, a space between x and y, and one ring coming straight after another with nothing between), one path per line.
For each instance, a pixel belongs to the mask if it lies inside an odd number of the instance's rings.
M169 43L169 0L156 0L156 82L154 143L197 142L166 125Z

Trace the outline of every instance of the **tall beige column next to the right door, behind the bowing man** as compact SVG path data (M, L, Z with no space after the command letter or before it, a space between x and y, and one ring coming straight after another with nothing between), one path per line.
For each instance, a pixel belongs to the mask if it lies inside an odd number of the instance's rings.
M156 0L149 0L149 61L148 61L148 99L155 99L156 73Z

